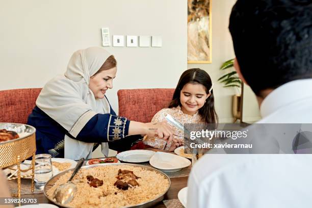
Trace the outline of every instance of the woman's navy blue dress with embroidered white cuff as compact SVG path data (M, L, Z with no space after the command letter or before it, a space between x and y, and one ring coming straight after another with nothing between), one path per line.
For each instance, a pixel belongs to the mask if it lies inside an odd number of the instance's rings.
M130 121L116 116L111 108L110 114L96 114L74 138L57 121L49 117L37 106L28 117L27 124L36 128L36 154L49 153L53 158L64 158L64 136L83 142L94 143L93 150L101 143L108 142L109 148L117 151L128 150L141 139L140 135L127 136ZM124 139L122 139L122 137Z

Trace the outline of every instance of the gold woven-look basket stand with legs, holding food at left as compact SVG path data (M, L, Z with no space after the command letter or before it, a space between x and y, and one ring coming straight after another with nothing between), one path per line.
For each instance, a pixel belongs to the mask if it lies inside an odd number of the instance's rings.
M35 153L36 153L36 129L33 126L19 124L19 123L0 123L0 129L7 129L14 131L20 135L20 138L0 142L0 168L9 166L16 166L17 176L9 176L8 180L17 179L18 192L13 196L20 197L20 178L32 176L31 191L34 191L34 166L35 166ZM21 170L20 163L30 157L33 157L32 164L29 169ZM10 168L12 169L12 168ZM20 175L20 172L27 172L32 170L29 175Z

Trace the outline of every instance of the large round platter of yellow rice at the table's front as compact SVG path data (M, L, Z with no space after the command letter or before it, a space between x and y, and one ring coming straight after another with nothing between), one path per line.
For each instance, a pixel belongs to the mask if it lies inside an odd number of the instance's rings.
M121 190L114 186L118 170L129 170L138 176L139 186ZM65 184L73 169L64 171L51 178L44 187L45 196L53 203L53 193ZM103 181L97 188L89 186L87 175ZM163 172L137 164L97 164L83 166L72 179L77 191L72 201L63 207L149 207L163 200L170 188L170 178Z

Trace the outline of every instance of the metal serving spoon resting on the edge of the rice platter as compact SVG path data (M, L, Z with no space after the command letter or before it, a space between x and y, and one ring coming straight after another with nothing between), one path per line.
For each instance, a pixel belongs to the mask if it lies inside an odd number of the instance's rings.
M67 204L69 203L74 193L77 191L77 187L75 184L71 182L71 179L75 176L75 174L79 171L81 166L83 165L85 159L82 158L78 161L73 173L71 174L70 178L65 184L59 186L53 194L53 198L60 204Z

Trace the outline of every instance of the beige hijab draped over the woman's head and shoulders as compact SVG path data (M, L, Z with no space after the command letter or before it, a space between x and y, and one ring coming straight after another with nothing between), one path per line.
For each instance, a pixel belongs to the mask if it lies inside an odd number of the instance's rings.
M95 99L89 89L90 76L94 75L110 57L103 48L89 47L77 50L70 58L64 75L50 80L42 89L36 105L76 137L86 123L97 113L110 113L106 98ZM81 142L67 135L65 158L78 160L90 158L94 143ZM102 152L108 155L107 143Z

